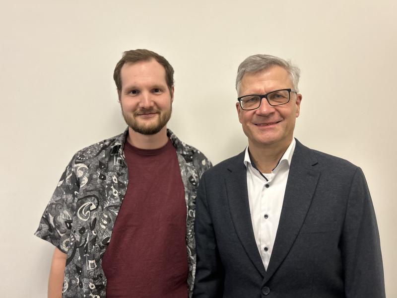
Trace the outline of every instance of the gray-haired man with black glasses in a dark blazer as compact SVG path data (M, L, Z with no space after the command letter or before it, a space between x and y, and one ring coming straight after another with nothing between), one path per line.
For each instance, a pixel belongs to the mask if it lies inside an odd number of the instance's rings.
M293 138L298 81L297 67L270 55L239 66L248 147L200 180L194 298L385 297L364 174Z

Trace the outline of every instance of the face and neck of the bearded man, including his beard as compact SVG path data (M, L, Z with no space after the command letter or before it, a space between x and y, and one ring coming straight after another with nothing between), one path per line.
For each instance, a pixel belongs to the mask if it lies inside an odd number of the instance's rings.
M167 141L174 87L170 90L165 70L154 59L125 64L121 69L120 105L129 126L127 141L141 149L156 149Z

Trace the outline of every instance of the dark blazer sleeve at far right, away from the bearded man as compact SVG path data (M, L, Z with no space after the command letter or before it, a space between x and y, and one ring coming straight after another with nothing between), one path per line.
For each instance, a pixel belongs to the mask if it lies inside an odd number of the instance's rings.
M346 298L386 297L378 225L360 168L357 168L351 183L341 252Z

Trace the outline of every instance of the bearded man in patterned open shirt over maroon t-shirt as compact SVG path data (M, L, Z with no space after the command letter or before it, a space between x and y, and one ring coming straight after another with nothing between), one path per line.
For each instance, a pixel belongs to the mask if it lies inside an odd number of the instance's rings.
M49 297L191 296L196 190L211 163L166 127L173 74L148 50L116 65L128 129L73 156L36 231L56 246Z

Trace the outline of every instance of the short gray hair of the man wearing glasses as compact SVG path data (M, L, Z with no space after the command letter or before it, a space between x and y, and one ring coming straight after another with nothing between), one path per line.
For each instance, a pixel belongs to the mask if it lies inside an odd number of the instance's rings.
M298 83L300 70L297 66L291 64L291 61L285 61L284 59L264 54L252 55L246 58L239 66L236 77L236 90L239 91L241 80L245 73L257 73L265 69L269 69L272 66L280 66L285 69L292 81L295 91L299 91Z

